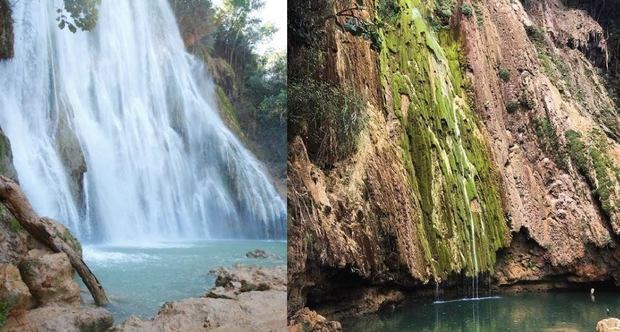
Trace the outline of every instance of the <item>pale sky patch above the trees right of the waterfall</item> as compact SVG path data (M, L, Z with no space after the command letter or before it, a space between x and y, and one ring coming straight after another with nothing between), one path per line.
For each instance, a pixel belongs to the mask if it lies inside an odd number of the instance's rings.
M220 6L223 0L213 0L214 6ZM258 13L264 23L273 24L278 31L271 40L258 45L257 52L265 54L269 50L286 50L286 0L265 0L265 7Z

